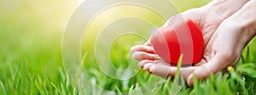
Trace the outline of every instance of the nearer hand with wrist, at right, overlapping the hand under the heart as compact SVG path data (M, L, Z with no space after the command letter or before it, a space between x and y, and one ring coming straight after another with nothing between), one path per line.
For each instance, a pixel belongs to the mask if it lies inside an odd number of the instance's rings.
M219 25L203 53L207 64L202 64L193 70L198 78L205 79L212 73L236 64L240 59L243 48L256 36L255 6L255 0L249 1L236 14ZM188 77L190 86L193 84L192 78L190 72Z

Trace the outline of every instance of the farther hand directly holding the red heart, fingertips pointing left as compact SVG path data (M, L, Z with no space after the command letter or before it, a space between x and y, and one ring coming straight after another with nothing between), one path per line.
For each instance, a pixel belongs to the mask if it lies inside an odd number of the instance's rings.
M182 13L195 20L195 22L201 26L202 34L204 36L204 46L205 48L207 47L205 53L203 54L203 59L201 59L199 64L191 67L181 68L180 73L183 75L184 79L188 81L189 85L192 84L192 79L190 78L191 73L194 70L201 70L208 60L210 60L208 53L211 53L212 51L207 50L210 49L208 42L212 38L214 32L217 30L218 25L220 25L222 21L228 18L231 14L234 14L239 8L241 8L241 6L243 6L244 3L247 3L247 0L240 0L240 2L230 0L212 1L212 3L209 3L204 7L191 9ZM234 7L234 5L236 5L236 7ZM229 6L233 7L230 8ZM172 21L172 18L167 21L164 26L169 25L170 21ZM144 70L148 70L149 73L153 73L154 75L159 75L164 78L166 78L168 75L174 76L176 73L177 67L172 66L172 64L163 59L160 59L160 57L154 53L154 49L149 42L146 42L144 45L138 45L131 48L131 52L133 53L133 58L139 60L139 65ZM201 75L207 76L208 74ZM201 78L200 75L198 75L198 77Z

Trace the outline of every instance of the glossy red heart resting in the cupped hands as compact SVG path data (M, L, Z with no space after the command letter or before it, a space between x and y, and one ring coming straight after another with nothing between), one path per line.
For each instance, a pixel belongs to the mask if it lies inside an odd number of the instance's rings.
M181 54L182 64L200 62L204 41L199 25L181 14L172 17L169 23L151 36L154 51L172 64L177 64Z

